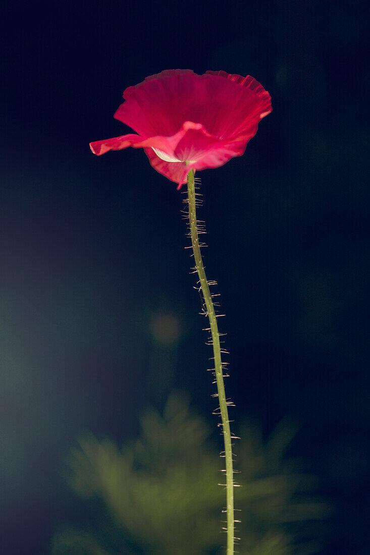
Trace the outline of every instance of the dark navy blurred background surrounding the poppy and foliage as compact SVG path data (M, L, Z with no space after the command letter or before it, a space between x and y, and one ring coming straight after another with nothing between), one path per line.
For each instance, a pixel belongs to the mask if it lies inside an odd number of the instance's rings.
M172 68L251 74L271 93L246 154L198 173L232 417L265 433L296 422L294 454L336 507L324 553L369 553L362 8L0 8L2 553L47 553L54 524L78 521L62 468L79 432L126 441L173 387L216 425L183 195L141 150L97 158L88 147L127 132L113 119L124 88ZM153 329L169 317L179 339L164 348Z

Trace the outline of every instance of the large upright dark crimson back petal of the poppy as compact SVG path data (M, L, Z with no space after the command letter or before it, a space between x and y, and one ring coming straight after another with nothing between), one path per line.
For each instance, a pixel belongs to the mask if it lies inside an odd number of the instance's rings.
M140 135L173 135L186 120L201 123L221 139L243 133L271 112L271 97L256 79L191 70L171 70L124 92L114 117Z

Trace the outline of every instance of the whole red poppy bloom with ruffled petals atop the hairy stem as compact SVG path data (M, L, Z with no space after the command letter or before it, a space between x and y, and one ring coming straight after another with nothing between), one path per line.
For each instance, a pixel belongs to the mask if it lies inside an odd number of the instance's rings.
M165 70L128 87L123 98L114 117L137 134L93 142L92 152L143 148L153 168L178 189L191 168L217 168L244 154L259 121L272 111L271 97L256 79L224 71Z

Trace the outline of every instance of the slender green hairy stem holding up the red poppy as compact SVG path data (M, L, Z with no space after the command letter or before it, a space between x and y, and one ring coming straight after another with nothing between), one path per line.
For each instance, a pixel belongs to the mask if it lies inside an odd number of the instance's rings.
M226 500L227 500L227 555L234 553L234 483L233 483L233 456L231 432L229 425L229 417L227 410L227 401L225 395L225 387L223 383L223 367L221 360L221 347L219 344L219 333L217 326L216 312L212 302L212 295L209 291L209 285L204 271L201 249L199 247L197 215L196 215L196 194L194 184L194 171L191 170L187 176L188 181L188 203L189 203L189 223L192 238L192 246L196 268L201 284L204 303L206 304L209 326L211 328L214 370L216 372L217 392L219 399L219 407L221 412L222 432L225 446L226 461Z

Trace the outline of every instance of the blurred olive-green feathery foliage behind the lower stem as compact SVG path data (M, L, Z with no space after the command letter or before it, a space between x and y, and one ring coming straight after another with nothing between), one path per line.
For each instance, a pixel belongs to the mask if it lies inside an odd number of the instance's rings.
M141 437L121 450L93 436L79 441L68 481L88 502L88 527L62 527L52 555L216 555L224 492L209 430L184 395L171 393L163 416L141 418ZM282 423L268 441L256 426L242 428L236 491L242 543L248 555L318 553L316 523L328 508L313 498L312 478L284 456L294 430ZM238 448L239 447L239 448ZM312 526L314 524L314 526Z

